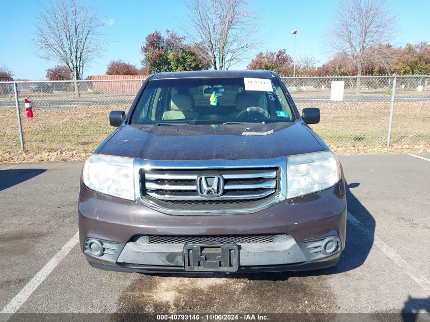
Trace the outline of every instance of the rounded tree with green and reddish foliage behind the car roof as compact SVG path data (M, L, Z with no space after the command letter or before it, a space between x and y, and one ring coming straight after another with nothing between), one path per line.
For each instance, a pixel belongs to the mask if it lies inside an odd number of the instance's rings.
M149 73L207 70L210 60L202 44L188 45L185 37L166 31L164 36L155 31L149 34L141 47L142 65Z

